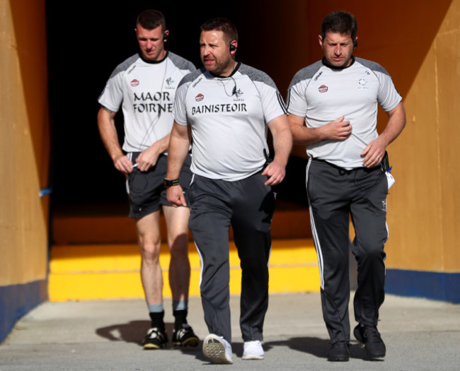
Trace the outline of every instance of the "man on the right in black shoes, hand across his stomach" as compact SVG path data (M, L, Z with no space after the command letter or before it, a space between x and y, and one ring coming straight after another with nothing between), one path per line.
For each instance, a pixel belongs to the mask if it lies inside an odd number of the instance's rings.
M350 357L350 216L358 263L358 325L353 333L370 358L386 354L376 328L385 295L386 194L391 186L384 155L406 124L402 98L389 73L352 56L356 34L352 14L326 16L318 36L325 57L296 73L287 98L294 143L306 145L309 155L306 190L331 361ZM389 117L381 134L376 131L378 105Z

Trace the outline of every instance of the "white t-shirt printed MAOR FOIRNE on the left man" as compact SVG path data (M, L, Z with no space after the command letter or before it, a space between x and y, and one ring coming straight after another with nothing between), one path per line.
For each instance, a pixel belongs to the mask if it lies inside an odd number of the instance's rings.
M144 151L171 133L176 88L191 71L192 62L172 52L154 62L134 54L117 66L98 102L113 112L122 105L124 151Z

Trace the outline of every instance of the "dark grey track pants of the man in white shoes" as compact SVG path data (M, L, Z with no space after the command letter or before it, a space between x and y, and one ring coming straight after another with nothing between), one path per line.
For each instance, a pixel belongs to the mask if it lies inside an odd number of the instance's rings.
M258 172L236 182L195 175L190 185L190 221L201 259L200 292L212 334L231 342L229 226L241 261L240 327L243 341L263 340L268 309L270 224L275 194Z

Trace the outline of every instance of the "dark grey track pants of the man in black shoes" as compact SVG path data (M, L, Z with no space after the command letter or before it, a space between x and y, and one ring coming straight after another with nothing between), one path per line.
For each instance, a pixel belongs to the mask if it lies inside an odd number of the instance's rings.
M350 340L349 249L358 264L354 309L357 322L376 326L384 302L386 194L381 167L344 170L310 159L306 190L321 276L323 317L331 341ZM350 243L350 216L355 240Z

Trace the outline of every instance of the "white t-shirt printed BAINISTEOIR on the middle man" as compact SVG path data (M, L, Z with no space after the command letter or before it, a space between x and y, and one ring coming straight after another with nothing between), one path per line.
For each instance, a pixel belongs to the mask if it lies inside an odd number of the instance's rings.
M204 68L185 76L173 110L178 124L192 128L192 172L227 181L263 168L267 124L285 113L272 79L245 64L229 77Z

